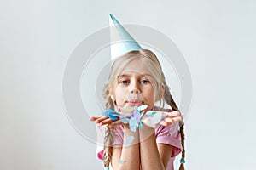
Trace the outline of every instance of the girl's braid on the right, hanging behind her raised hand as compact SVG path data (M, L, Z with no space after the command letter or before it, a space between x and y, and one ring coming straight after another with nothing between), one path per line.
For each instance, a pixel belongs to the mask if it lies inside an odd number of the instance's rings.
M177 105L176 105L174 99L172 98L172 94L170 92L170 88L166 84L166 81L164 81L164 85L165 85L164 99L166 100L166 103L171 105L173 111L178 111ZM179 170L184 170L185 169L184 168L184 163L185 163L184 122L179 122L179 133L181 134L181 144L182 144L182 147L183 147Z

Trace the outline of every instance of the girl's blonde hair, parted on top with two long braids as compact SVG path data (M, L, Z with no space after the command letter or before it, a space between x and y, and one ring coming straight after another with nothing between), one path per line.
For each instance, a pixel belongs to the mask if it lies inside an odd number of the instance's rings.
M103 88L103 97L106 99L106 107L110 109L114 109L114 102L111 99L111 89L115 88L117 84L117 77L124 70L125 66L128 65L134 59L143 59L148 66L148 70L154 77L156 81L156 95L162 95L162 91L160 89L161 86L164 87L164 93L161 97L162 104L166 103L172 107L173 111L178 111L177 105L172 98L172 94L170 92L170 88L166 83L166 77L162 71L159 60L156 55L148 49L141 49L139 51L131 51L126 54L121 55L119 58L115 59L113 65L111 66L111 71L108 77L108 82L105 84ZM180 122L180 133L181 133L181 143L183 146L182 159L185 157L184 150L184 133L183 133L184 123ZM108 167L112 157L112 140L113 140L113 132L110 128L106 128L105 138L104 138L104 167ZM183 170L183 163L179 167L180 170Z

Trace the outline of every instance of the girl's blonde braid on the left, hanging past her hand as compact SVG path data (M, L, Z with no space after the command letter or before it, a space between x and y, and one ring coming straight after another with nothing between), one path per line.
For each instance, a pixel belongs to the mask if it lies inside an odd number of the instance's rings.
M103 96L107 99L106 108L113 109L113 101L110 98L109 90L107 86L103 88ZM105 170L109 169L109 164L112 158L112 142L113 142L113 132L109 127L105 129L105 137L104 137L104 149L103 149L103 161Z

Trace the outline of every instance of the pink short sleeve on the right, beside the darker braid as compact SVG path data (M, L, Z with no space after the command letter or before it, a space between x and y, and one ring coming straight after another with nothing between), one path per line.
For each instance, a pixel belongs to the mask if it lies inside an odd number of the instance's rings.
M160 125L155 129L156 143L172 145L171 157L177 156L183 149L181 144L181 135L178 131L178 122L164 127Z

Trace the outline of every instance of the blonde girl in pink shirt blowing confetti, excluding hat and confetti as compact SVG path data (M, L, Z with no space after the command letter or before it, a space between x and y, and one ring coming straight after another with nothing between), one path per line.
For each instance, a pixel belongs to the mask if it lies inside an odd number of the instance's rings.
M91 121L106 126L104 150L97 154L104 160L105 169L172 170L174 157L180 152L180 169L183 169L183 118L172 99L160 62L150 50L131 51L115 59L103 91L107 108L120 115L132 112L129 108L134 106L148 105L141 111L141 125L135 131L120 118L91 117ZM155 106L156 102L160 105ZM172 110L164 109L165 104ZM162 121L148 125L143 115L147 111L162 111Z

